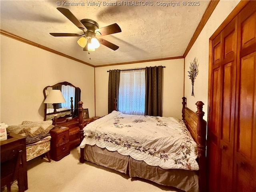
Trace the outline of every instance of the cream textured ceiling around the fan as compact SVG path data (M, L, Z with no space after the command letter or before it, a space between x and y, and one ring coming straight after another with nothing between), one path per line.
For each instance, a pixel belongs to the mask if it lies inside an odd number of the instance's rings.
M57 5L60 2L60 6ZM1 30L46 46L94 66L182 56L209 4L183 6L182 1L0 1ZM122 6L118 6L122 2ZM152 6L146 6L146 2ZM175 6L161 6L172 2ZM74 5L74 4L77 5ZM89 5L88 5L89 4ZM98 5L97 5L98 4ZM179 4L179 5L178 5ZM168 5L168 4L166 4ZM102 36L118 45L116 51L101 45L95 52L78 46L79 37L54 37L49 33L78 33L56 8L69 9L78 20L89 18L100 28L117 23L122 32Z

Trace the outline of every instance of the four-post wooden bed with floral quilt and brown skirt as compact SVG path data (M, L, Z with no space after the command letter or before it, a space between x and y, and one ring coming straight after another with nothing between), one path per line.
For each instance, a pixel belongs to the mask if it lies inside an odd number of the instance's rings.
M82 102L79 102L80 162L88 160L130 177L186 192L205 192L204 104L197 102L194 113L186 108L186 98L182 100L182 120L113 111L87 126L84 126ZM152 124L157 128L152 128ZM172 130L170 125L174 127Z

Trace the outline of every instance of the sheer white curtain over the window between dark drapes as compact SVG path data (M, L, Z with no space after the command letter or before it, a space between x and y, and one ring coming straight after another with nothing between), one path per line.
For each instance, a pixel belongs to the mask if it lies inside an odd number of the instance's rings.
M120 72L118 110L124 114L144 115L145 69Z

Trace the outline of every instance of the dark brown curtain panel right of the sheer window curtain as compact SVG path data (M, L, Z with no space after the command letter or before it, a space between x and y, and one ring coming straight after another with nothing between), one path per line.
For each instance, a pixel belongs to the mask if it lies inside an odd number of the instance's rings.
M146 67L145 115L162 116L162 66Z

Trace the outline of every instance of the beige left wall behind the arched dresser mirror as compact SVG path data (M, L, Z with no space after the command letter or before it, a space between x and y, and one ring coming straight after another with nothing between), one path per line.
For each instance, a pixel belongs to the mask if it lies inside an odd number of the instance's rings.
M1 122L44 120L43 89L68 81L94 116L94 68L1 35Z

